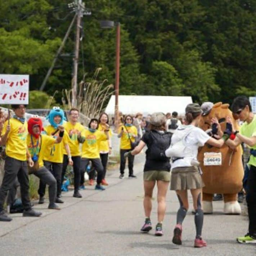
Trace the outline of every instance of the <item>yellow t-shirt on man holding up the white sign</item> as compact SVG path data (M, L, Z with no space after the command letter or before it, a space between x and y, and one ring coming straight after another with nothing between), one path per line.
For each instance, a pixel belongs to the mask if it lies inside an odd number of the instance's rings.
M2 136L6 133L6 126L8 125L8 121L5 121ZM26 154L26 139L27 139L27 122L20 122L15 118L10 118L10 126L11 130L7 136L5 153L7 156L15 158L20 161L27 160Z

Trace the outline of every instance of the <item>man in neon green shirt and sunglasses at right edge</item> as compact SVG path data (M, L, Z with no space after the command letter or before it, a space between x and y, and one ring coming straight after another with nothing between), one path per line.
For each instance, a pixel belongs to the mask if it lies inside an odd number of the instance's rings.
M256 116L253 114L250 101L246 96L235 98L231 109L233 114L244 123L241 126L240 132L234 131L234 128L232 128L232 132L236 134L236 137L234 140L227 140L226 144L234 148L243 142L251 149L251 156L248 162L250 171L248 174L248 190L246 195L249 230L245 236L238 237L237 242L256 243ZM227 122L231 122L231 119L227 118Z

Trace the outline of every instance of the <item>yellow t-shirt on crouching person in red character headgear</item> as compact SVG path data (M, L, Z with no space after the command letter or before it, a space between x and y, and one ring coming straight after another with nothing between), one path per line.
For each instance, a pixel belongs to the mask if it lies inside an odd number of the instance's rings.
M31 154L31 157L33 157L35 154L37 155L39 168L44 166L44 156L46 154L49 154L55 142L55 138L48 136L46 134L42 134L40 137L36 139L34 136L32 136L32 144L31 135L28 134L27 136L28 151Z

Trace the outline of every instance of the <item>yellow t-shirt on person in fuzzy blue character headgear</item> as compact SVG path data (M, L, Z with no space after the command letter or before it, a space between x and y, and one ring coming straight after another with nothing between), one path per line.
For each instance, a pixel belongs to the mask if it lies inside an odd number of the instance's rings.
M44 131L48 136L52 136L53 138L56 139L59 136L59 131L54 135L51 135L52 133L54 133L55 130L56 129L51 125L48 125L44 128ZM67 134L67 131L64 131L64 136L62 138L62 141L58 144L54 144L51 150L49 152L46 152L44 156L44 160L53 162L53 163L62 163L64 148L65 148L65 144L67 143L68 143L68 134Z

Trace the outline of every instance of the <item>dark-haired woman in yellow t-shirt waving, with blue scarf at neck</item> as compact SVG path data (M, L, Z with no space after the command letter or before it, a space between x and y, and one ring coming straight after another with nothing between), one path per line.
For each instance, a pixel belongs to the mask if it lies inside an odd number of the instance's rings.
M98 172L97 184L95 189L105 190L100 184L102 183L103 165L100 161L99 147L100 143L109 139L109 126L105 124L106 130L104 132L98 129L98 120L93 118L89 122L89 129L85 131L85 141L82 144L82 158L81 158L81 173L84 172L89 161Z

